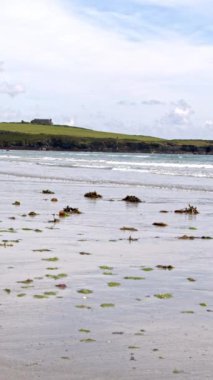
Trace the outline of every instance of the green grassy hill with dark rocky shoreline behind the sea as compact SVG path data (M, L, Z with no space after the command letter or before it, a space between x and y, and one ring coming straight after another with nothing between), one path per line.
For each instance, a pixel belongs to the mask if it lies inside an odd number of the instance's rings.
M213 141L166 140L66 125L0 123L0 148L213 154Z

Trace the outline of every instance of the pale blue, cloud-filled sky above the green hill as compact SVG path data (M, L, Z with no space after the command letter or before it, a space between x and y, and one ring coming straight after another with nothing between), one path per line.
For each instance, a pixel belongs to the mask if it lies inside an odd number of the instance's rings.
M213 139L212 0L0 0L0 121Z

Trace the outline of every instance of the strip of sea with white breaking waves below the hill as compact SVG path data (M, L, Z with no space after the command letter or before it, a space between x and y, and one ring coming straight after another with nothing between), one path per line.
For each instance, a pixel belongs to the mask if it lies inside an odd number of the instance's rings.
M213 191L213 156L0 152L0 178Z

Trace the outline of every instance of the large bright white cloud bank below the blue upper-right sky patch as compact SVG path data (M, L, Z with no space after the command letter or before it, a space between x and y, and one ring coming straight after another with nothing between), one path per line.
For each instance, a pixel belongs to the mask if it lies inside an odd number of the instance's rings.
M177 5L177 0L172 3ZM14 107L30 118L42 113L58 122L63 121L61 115L75 115L80 126L98 129L105 125L115 131L121 126L126 132L129 128L131 133L149 134L148 125L158 135L155 120L162 119L165 107L178 98L189 99L192 106L177 103L167 110L174 129L190 122L194 104L199 115L203 93L213 85L211 44L197 44L177 34L165 37L164 30L146 38L138 31L138 38L131 40L62 4L1 0L0 59L6 71L1 72L0 92L12 96L27 89L27 96L14 98ZM140 107L118 107L117 99L131 99ZM158 99L163 99L163 110L155 107L153 113L142 107L160 105ZM5 97L1 101L6 106ZM199 117L203 125L211 118L210 101L205 118Z

